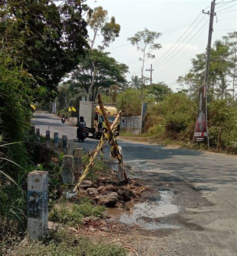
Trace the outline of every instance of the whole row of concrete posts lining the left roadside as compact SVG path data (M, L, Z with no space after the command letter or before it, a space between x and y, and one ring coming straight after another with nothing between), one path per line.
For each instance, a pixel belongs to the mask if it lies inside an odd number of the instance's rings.
M39 128L31 126L31 135L40 141ZM50 131L46 131L46 145L50 146ZM76 170L81 165L82 148L73 139L62 135L62 192L72 193L74 180L80 173ZM58 133L53 133L53 148L58 150ZM27 231L32 240L47 234L48 229L48 172L32 171L27 176Z

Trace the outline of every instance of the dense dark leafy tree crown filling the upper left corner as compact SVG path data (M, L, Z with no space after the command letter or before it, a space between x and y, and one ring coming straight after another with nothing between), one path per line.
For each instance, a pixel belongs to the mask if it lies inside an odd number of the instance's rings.
M36 85L54 89L88 47L84 1L5 1L0 17L1 49L20 60ZM81 3L81 4L80 4Z

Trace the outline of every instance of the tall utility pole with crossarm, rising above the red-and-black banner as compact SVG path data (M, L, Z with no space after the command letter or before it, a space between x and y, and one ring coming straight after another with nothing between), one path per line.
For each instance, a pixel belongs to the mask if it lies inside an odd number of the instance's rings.
M210 62L210 49L211 49L211 36L212 36L212 30L213 30L213 19L214 16L216 15L214 13L215 9L215 0L213 0L210 4L210 12L208 11L207 13L202 10L203 14L208 14L210 15L210 20L209 20L209 31L208 31L208 42L207 42L207 53L206 53L206 62L205 62L205 78L204 78L204 83L206 84L208 81L208 71L209 71L209 62Z

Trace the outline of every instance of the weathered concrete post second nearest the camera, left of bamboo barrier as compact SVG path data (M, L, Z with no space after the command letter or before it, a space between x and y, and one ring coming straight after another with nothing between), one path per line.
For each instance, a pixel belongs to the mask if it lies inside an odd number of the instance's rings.
M73 191L73 156L63 156L62 158L62 183L65 186L63 192Z

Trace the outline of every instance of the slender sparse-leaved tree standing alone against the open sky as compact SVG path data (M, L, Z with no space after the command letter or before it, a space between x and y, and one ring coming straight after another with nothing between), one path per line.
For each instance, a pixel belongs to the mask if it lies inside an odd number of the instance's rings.
M143 91L143 71L144 71L144 62L147 59L154 59L155 55L151 52L159 50L161 48L160 44L155 43L156 39L159 38L161 33L152 32L144 28L143 31L138 31L133 37L127 38L132 46L135 46L137 51L141 52L142 57L138 58L141 61L141 87ZM143 96L142 96L143 97Z

